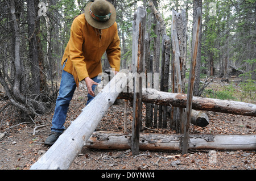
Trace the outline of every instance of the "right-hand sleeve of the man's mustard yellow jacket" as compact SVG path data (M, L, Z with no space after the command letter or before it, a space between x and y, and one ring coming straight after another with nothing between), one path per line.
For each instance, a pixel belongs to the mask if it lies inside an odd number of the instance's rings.
M115 26L117 27L117 24L115 24ZM119 39L117 28L116 28L114 39L112 40L112 43L110 43L108 49L106 49L109 64L111 68L116 71L120 70L121 49L119 45L120 45L120 39Z

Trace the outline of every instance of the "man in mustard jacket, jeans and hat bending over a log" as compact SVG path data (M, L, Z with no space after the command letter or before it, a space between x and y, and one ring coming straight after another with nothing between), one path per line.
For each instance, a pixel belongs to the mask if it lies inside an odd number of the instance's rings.
M101 81L101 57L106 52L115 74L120 68L121 50L115 22L116 12L112 3L105 0L90 1L85 13L77 16L71 26L71 36L61 65L59 96L52 118L51 134L44 144L53 145L64 131L68 106L80 81L85 81L88 90L87 104L94 98L94 89Z

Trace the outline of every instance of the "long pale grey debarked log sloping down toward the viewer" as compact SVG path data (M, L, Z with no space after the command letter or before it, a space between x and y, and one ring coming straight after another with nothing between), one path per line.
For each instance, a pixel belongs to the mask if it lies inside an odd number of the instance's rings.
M127 80L128 79L128 80ZM49 150L31 166L31 169L56 170L68 169L88 138L97 128L105 112L115 102L130 81L127 70L120 71L90 102L75 121L61 134Z

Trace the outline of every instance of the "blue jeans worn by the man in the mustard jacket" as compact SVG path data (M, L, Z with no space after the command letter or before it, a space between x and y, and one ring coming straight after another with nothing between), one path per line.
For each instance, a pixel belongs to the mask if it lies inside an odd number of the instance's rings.
M63 65L64 68L65 64ZM94 82L100 83L101 79L98 77L92 78ZM92 90L94 91L96 85L92 86ZM64 123L67 117L69 103L73 98L73 94L76 90L76 82L72 74L69 74L67 71L63 70L60 81L60 90L59 96L56 100L56 106L54 115L52 117L52 127L51 131L62 133L65 130ZM87 95L88 100L86 104L94 98L92 95Z

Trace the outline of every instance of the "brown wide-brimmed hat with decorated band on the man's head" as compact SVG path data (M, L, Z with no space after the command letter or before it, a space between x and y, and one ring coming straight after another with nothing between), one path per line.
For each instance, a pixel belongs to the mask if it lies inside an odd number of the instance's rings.
M90 1L84 9L84 15L90 26L100 30L111 27L117 17L115 7L106 0Z

